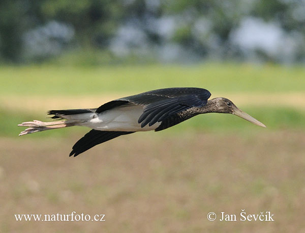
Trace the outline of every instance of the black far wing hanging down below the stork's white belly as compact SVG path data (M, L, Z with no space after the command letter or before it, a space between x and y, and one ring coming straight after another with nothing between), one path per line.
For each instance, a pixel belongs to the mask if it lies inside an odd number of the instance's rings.
M74 144L69 156L73 156L74 154L74 157L76 157L78 156L78 154L98 144L109 141L121 135L127 135L132 133L135 132L91 130Z

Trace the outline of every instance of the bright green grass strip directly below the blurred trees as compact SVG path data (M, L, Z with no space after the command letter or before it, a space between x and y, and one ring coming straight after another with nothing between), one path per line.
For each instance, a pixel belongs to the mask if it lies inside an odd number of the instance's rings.
M303 67L276 65L146 65L102 67L1 67L4 95L138 93L166 87L213 92L295 92L305 89ZM289 96L287 96L289 97Z

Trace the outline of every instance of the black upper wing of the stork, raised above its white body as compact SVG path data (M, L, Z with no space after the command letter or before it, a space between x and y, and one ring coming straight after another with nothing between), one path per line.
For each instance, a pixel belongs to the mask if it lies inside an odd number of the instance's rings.
M138 122L141 127L161 122L171 115L192 107L206 105L211 93L202 88L164 88L137 95L119 98L105 103L97 113L126 104L143 106L143 113Z

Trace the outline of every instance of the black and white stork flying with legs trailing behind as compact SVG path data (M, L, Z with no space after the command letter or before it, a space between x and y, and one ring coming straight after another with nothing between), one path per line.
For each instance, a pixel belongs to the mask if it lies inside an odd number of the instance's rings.
M19 136L70 126L92 128L79 139L69 156L80 153L121 135L140 131L162 131L196 115L229 113L266 127L263 123L238 109L224 97L208 100L211 93L203 88L164 88L118 98L94 109L50 110L48 115L57 121L39 120L23 122L27 126Z

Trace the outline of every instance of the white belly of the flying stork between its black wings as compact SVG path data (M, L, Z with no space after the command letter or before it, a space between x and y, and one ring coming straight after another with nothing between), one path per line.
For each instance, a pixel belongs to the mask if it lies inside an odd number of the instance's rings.
M155 130L161 124L161 122L157 122L151 126L147 124L142 128L141 124L138 123L138 119L142 113L142 106L120 106L99 114L85 113L88 117L87 121L79 123L79 125L100 131L151 131Z

